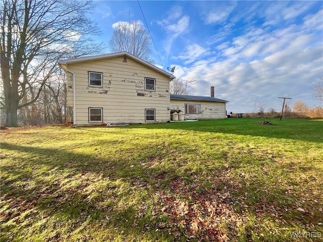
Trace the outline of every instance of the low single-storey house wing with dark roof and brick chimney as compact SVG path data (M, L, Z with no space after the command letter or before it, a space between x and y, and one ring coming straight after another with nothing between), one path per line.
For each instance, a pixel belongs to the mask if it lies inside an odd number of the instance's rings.
M181 110L184 119L223 119L226 118L226 103L228 101L214 97L214 87L211 96L190 96L171 94L171 110Z

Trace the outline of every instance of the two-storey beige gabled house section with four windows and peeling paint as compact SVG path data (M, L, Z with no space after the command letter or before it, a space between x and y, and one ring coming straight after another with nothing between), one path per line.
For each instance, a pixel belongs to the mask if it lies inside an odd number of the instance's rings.
M128 53L65 59L74 126L163 123L170 120L175 77Z

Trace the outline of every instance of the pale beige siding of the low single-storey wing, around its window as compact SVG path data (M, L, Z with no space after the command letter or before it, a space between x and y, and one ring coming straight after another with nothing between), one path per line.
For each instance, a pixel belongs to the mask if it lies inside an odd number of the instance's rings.
M185 104L199 104L200 114L185 114ZM225 102L208 102L171 99L171 109L180 109L184 119L223 119L226 118Z

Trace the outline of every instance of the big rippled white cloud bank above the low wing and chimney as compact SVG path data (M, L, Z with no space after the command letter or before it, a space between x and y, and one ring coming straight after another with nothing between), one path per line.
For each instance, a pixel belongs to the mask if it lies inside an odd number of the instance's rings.
M203 56L207 48L195 46L192 56L200 54L203 60L181 68L184 80L197 80L189 85L190 94L208 96L213 85L216 97L229 100L227 108L234 112L254 111L257 98L276 110L281 107L278 96L311 98L311 85L321 76L323 62L322 33L312 32L323 22L319 14L304 18L316 23L312 27L290 25L272 32L250 28L217 47L220 58L226 56L223 61ZM179 57L189 60L189 51Z

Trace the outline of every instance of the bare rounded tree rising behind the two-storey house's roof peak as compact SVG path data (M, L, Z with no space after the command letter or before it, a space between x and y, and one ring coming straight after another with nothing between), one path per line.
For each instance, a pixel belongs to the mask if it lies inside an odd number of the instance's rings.
M109 41L112 52L127 51L146 62L153 63L151 40L144 27L138 22L119 22L113 26L113 36Z

